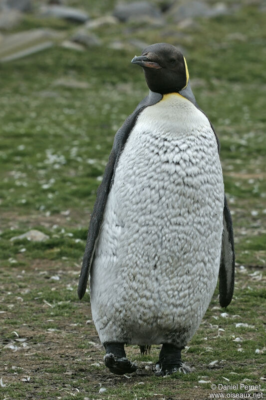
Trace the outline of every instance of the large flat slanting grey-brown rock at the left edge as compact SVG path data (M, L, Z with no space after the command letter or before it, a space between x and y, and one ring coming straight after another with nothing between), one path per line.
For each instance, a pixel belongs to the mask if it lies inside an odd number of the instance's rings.
M11 61L51 47L60 37L52 29L30 29L8 34L0 42L0 61Z

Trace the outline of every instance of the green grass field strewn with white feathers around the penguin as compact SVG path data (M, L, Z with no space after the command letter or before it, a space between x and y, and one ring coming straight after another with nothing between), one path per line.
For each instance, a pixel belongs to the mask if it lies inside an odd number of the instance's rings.
M87 11L96 17L113 4L92 1ZM66 35L76 29L58 20L41 24ZM30 15L16 30L38 26ZM0 64L1 398L202 400L210 398L212 383L265 385L266 14L249 6L199 19L183 31L170 22L160 29L122 23L95 33L103 47L76 52L58 45ZM89 214L113 136L147 93L141 70L130 64L139 49L108 47L132 37L185 48L197 101L221 140L236 289L226 310L216 290L184 350L184 360L195 367L189 375L158 378L146 369L156 362L158 346L147 356L127 347L140 366L131 378L109 373L89 296L78 301L76 295ZM31 228L49 239L10 241ZM107 390L99 393L101 387Z

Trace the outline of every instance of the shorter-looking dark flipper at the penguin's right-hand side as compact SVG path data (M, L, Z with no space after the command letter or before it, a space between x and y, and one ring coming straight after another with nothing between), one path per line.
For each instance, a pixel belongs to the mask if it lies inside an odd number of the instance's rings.
M235 283L235 246L231 212L225 196L222 251L219 270L219 302L221 307L230 304Z

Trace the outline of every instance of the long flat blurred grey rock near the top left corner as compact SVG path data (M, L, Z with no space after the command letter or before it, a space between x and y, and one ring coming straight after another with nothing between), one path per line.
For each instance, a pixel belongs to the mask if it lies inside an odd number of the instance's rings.
M42 16L52 16L81 23L86 22L89 19L87 12L73 7L65 7L63 5L43 5L40 7L40 14Z

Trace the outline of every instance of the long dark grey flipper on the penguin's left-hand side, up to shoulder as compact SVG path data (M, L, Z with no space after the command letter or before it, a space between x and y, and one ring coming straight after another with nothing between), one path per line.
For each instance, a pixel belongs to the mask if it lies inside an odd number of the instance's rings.
M121 128L116 132L113 148L104 171L102 182L97 190L96 201L90 218L87 242L77 290L79 298L82 298L86 291L89 272L93 261L93 254L103 219L104 208L121 151L123 150L126 140L136 123L139 113L149 105L156 104L162 99L162 97L162 94L150 91L149 95L138 104L133 113L129 115Z

